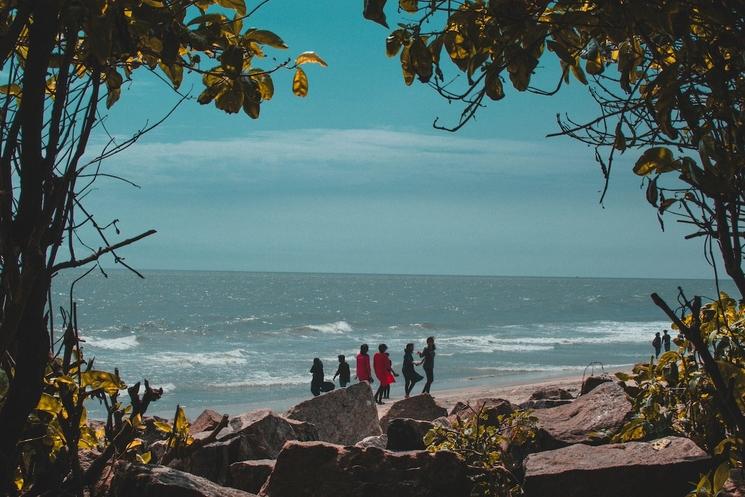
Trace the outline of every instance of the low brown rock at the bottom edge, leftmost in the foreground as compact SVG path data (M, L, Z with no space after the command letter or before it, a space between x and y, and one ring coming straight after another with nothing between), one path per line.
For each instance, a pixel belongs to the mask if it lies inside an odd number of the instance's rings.
M256 497L167 466L116 463L109 497Z

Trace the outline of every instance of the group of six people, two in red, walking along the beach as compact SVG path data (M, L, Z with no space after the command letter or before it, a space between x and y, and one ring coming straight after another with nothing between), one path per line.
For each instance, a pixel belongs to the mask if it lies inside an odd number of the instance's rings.
M414 344L406 344L403 365L401 366L401 373L404 375L404 394L406 398L409 398L414 385L424 379L424 376L416 371L415 366L421 365L422 369L424 369L427 381L424 384L422 393L429 393L429 389L435 379L435 349L435 338L428 337L426 347L418 353L421 360L414 362ZM399 375L393 370L393 361L391 361L386 344L381 343L378 345L378 352L373 356L372 366L370 356L368 355L369 350L370 348L366 343L360 346L360 352L357 354L355 378L360 382L366 381L373 384L375 383L375 379L373 378L374 373L375 378L378 380L378 389L375 391L375 402L383 404L383 399L390 397L391 384L396 382L396 378ZM313 375L313 379L310 382L310 391L314 396L320 395L321 392L328 392L334 389L333 381L325 381L324 379L323 363L319 358L316 357L313 359L313 366L310 368L310 372ZM337 377L339 378L339 385L341 387L346 387L351 381L349 363L343 355L339 356L339 367L334 374L333 380L336 380Z

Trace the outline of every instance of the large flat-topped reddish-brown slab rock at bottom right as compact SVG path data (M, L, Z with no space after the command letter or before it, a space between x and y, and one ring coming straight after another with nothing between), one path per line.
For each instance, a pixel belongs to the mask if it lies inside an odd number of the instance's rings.
M706 471L709 456L687 438L627 442L531 454L525 460L526 497L681 497Z

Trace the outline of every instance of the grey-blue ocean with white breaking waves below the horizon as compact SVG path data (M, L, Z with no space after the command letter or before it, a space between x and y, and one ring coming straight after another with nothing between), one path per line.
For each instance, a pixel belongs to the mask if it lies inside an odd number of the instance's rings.
M399 371L406 343L421 350L428 336L437 345L435 395L582 375L591 362L612 371L648 361L654 333L669 326L650 293L673 301L681 285L716 295L708 280L106 272L75 285L84 354L97 368L119 368L127 384L162 387L149 413L169 417L177 404L192 417L206 408L283 410L311 396L314 357L331 379L344 354L354 375L360 344L386 343ZM55 307L79 275L56 279ZM402 395L401 378L392 398ZM105 412L96 402L89 409Z

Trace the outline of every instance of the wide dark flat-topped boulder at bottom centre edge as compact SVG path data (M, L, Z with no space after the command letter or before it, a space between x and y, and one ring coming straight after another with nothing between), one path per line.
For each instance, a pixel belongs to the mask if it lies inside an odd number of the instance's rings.
M468 497L466 468L449 451L389 452L288 442L262 497Z

